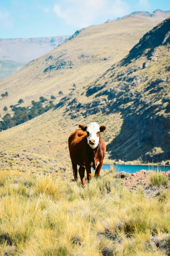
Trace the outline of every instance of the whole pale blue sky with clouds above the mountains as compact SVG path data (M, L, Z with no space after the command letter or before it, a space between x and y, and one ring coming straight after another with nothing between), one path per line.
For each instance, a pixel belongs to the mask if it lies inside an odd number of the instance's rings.
M170 0L0 0L0 38L72 35L133 11L170 10Z

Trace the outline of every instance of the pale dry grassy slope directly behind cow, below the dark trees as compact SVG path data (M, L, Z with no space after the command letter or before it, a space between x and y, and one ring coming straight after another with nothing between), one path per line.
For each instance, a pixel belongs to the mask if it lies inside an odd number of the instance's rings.
M87 125L90 122L106 125L106 131L101 136L108 142L113 134L120 132L122 118L118 113L111 113L70 119L70 116L64 114L64 108L50 110L19 126L0 132L0 150L7 149L11 152L26 150L30 153L43 153L55 157L61 162L63 160L70 162L68 137L79 128L78 124Z

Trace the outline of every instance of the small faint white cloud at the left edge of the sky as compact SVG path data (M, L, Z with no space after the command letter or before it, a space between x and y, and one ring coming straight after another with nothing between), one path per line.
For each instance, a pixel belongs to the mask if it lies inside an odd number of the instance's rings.
M9 12L6 9L0 7L0 27L2 28L12 28L13 19L11 18Z

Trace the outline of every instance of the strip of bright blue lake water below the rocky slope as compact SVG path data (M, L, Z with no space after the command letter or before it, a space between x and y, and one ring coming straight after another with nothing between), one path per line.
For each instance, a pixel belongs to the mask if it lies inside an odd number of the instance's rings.
M134 173L134 172L138 172L142 169L144 170L155 170L157 171L157 166L153 166L153 165L122 165L122 164L115 164L114 168L116 169L116 172L129 172L129 173ZM109 170L110 169L110 164L103 164L102 166L102 170ZM170 166L159 166L159 171L170 171Z

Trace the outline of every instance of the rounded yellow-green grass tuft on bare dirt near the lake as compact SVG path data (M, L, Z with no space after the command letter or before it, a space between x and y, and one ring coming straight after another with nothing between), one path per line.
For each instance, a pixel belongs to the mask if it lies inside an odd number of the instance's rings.
M149 177L149 187L168 186L168 178L160 172L151 172Z

